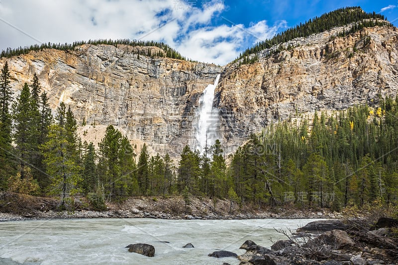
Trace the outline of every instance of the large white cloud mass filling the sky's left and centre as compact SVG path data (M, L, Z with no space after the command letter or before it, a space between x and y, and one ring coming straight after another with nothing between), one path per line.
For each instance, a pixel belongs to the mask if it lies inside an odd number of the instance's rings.
M0 49L37 40L71 43L145 36L145 40L166 42L185 57L224 65L253 42L286 26L286 22L268 26L265 20L249 27L211 25L224 9L220 1L203 8L181 0L0 1Z

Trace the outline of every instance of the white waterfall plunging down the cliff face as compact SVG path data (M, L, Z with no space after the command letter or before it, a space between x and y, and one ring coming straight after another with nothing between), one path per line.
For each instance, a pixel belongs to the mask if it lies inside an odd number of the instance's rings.
M203 153L205 147L209 148L215 140L220 139L219 111L213 108L214 90L218 85L220 75L217 75L214 84L208 85L199 98L199 107L195 111L195 150Z

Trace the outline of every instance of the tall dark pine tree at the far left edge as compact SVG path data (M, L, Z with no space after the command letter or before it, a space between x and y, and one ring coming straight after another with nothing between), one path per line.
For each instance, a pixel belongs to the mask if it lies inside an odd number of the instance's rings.
M11 115L9 104L12 100L8 63L5 62L0 75L0 187L5 187L5 180L13 172L11 145Z

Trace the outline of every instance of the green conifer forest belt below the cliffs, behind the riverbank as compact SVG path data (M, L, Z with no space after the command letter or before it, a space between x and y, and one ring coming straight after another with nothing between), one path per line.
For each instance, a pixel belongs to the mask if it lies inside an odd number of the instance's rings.
M84 193L103 206L128 196L208 196L237 203L330 207L395 204L398 196L398 97L379 106L296 117L270 124L225 157L219 140L202 154L185 146L138 154L112 125L98 147L82 142L69 107L52 115L36 75L12 98L8 65L0 75L0 188L60 197Z

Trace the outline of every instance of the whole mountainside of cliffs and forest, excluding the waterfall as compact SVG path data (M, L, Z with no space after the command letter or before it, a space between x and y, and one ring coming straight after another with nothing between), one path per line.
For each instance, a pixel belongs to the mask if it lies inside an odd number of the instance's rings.
M1 187L62 198L194 194L336 209L390 203L398 178L398 30L383 19L339 9L223 67L128 40L5 51ZM219 74L220 139L199 154L199 97Z

